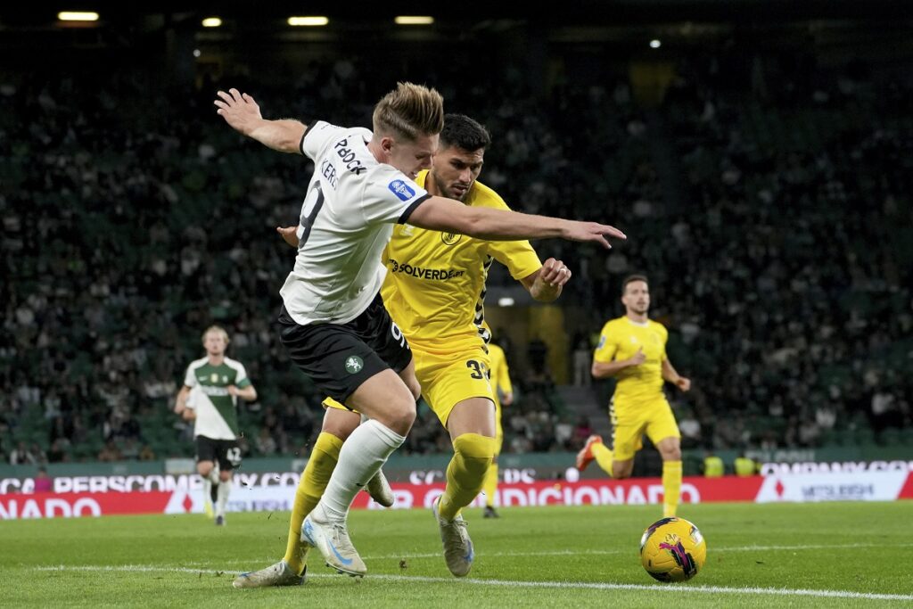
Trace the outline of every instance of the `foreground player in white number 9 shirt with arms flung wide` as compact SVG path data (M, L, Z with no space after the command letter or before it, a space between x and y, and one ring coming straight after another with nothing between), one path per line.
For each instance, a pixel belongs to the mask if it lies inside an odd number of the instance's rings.
M280 338L321 390L370 420L342 445L302 536L332 568L363 575L346 518L355 494L401 446L420 394L409 345L383 308L383 247L394 224L488 240L561 237L610 247L613 226L526 215L431 196L415 184L431 166L444 104L435 89L399 83L374 107L373 131L324 121L264 120L237 89L218 92L218 114L236 131L314 162L298 227L295 268L280 290Z

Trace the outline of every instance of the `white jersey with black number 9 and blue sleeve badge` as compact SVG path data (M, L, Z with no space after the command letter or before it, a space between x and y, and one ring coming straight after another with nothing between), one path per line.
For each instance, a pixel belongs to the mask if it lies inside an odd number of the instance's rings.
M279 290L301 325L346 323L381 289L383 247L430 195L393 165L378 163L372 132L318 121L301 139L314 175L301 206L298 257Z

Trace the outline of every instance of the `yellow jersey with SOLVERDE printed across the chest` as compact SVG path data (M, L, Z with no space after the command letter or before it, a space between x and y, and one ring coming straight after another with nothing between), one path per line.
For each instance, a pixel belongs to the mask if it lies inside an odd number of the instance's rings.
M427 172L415 182L425 186ZM501 197L476 182L466 205L509 209ZM452 352L488 342L485 322L485 280L493 260L515 279L542 266L529 241L484 241L398 225L383 250L387 276L381 295L390 316L409 343L420 351Z

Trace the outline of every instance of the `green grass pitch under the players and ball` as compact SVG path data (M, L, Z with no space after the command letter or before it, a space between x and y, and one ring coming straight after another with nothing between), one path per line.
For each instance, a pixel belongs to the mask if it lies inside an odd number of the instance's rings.
M353 511L368 565L353 579L310 554L304 586L236 590L236 572L276 562L288 512L0 522L0 605L131 607L913 606L913 503L703 504L708 560L683 584L641 568L656 506L468 509L476 544L456 580L429 510Z

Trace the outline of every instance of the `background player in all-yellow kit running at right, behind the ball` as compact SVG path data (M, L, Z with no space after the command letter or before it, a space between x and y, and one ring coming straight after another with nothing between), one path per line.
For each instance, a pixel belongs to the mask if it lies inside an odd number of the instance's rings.
M687 392L691 381L666 357L666 328L647 318L650 289L645 277L624 279L622 302L624 316L603 326L593 354L593 376L614 376L618 382L609 406L613 448L604 446L602 437L590 436L577 455L577 468L582 471L595 459L613 478L628 478L646 434L663 457L663 515L675 516L682 486L681 434L663 382Z

